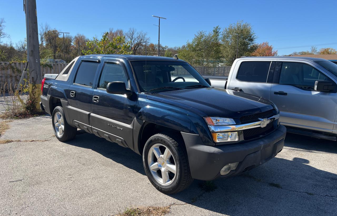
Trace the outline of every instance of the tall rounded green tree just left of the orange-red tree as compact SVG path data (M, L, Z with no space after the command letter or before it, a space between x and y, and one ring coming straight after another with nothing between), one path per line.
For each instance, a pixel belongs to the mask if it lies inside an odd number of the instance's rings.
M222 32L222 55L225 64L231 66L236 59L237 38L238 40L238 58L248 56L257 48L255 44L256 36L249 23L238 21L236 24L230 24Z

